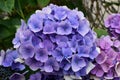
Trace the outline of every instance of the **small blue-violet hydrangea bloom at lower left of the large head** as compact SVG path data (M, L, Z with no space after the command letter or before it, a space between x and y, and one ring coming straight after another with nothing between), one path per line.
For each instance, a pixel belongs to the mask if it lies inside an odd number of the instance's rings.
M2 60L2 66L3 67L11 67L12 70L24 70L25 66L21 62L16 62L15 60L19 58L19 54L17 50L10 50L8 49L5 52L5 56L3 57L4 59Z

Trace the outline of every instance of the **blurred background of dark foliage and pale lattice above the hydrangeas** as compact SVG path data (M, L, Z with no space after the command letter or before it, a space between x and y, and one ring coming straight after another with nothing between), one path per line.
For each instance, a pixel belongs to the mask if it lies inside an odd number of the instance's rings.
M120 0L0 0L0 49L13 46L12 39L21 19L27 21L35 10L50 3L66 5L70 9L78 8L90 21L98 37L107 34L104 19L109 14L120 12Z

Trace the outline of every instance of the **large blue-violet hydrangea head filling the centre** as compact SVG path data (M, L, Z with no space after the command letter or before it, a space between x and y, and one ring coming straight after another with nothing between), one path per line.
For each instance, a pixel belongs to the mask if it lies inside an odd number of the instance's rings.
M81 11L50 4L21 23L13 44L33 71L84 76L94 67L96 35Z

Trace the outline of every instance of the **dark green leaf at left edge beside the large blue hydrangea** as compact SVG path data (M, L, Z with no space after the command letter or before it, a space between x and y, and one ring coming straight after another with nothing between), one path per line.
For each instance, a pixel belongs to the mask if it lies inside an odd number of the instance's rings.
M20 20L17 18L0 20L0 41L14 35L18 25L20 25Z

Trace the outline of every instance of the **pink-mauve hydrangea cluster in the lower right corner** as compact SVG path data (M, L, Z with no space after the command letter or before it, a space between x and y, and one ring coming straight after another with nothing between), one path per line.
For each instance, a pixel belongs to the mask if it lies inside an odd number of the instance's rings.
M96 66L91 71L97 77L113 79L120 77L120 41L110 36L97 40L101 52L96 57Z

